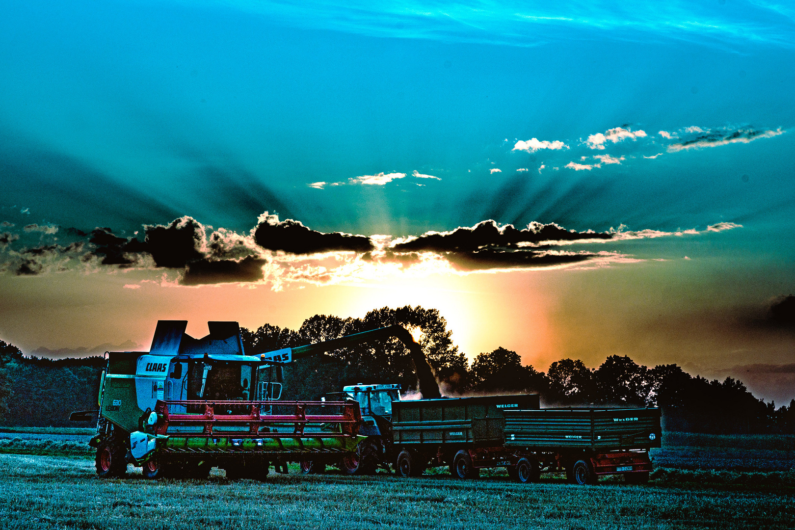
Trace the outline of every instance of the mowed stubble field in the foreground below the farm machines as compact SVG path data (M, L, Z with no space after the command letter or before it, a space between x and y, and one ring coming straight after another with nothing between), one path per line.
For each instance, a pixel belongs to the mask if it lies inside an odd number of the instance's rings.
M101 480L89 458L0 455L4 528L795 528L789 474L771 485L694 482L519 485L478 480L270 474L266 482ZM690 472L692 473L692 472ZM780 475L780 474L779 474ZM776 476L779 476L776 475ZM779 476L779 478L781 478ZM681 481L681 477L679 478ZM657 481L662 482L662 481ZM765 483L766 482L766 483Z

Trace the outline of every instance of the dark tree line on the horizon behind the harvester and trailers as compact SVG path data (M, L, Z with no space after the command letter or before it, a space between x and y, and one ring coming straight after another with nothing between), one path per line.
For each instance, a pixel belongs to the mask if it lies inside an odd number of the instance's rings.
M337 339L397 324L417 335L442 393L470 396L539 393L544 406L646 407L663 410L665 428L697 432L795 432L795 400L776 408L754 397L741 381L692 377L677 365L649 368L611 355L595 369L569 358L546 372L523 366L519 355L499 347L470 363L452 342L435 309L381 308L361 319L315 315L298 330L265 324L241 328L246 354ZM103 358L25 358L0 341L0 417L6 425L68 425L68 413L95 408ZM417 389L408 351L397 339L367 342L294 362L284 368L281 399L313 400L359 382L399 383Z

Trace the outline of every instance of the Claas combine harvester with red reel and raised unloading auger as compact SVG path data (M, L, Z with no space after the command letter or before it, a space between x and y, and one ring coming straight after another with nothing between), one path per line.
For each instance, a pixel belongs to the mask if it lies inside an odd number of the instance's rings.
M314 354L396 337L409 348L421 390L440 397L421 346L400 326L246 355L236 322L210 322L194 339L184 320L161 320L149 352L109 352L99 392L96 470L100 477L142 466L148 478L204 477L211 467L229 478L264 478L287 462L335 463L356 454L359 403L279 401L273 367ZM83 419L86 412L73 413Z

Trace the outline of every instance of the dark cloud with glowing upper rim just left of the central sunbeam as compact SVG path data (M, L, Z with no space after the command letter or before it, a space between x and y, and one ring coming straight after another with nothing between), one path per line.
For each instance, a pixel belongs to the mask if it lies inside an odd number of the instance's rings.
M279 221L276 215L267 215L267 212L261 219L261 222L254 230L254 241L259 246L269 250L284 250L293 254L329 252L332 250L350 250L363 253L368 250L374 250L370 238L366 238L363 235L318 232L310 230L301 222L293 219Z

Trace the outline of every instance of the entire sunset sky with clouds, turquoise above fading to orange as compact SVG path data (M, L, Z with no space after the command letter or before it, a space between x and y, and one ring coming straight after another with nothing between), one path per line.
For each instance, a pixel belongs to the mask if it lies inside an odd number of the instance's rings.
M0 339L437 308L474 358L795 398L785 2L17 2Z

